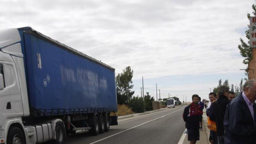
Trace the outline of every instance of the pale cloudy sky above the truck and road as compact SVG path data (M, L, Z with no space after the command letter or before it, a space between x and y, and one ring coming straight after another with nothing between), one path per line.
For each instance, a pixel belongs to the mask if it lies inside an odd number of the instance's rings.
M134 96L193 94L246 78L238 45L255 0L0 0L0 29L31 26L121 73ZM169 93L169 94L168 94Z

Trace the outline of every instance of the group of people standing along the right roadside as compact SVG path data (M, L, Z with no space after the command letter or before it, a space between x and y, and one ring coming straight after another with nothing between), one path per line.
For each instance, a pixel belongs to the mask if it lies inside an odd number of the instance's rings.
M212 144L256 144L255 79L246 81L237 97L227 86L220 86L217 94L209 93L209 100L206 113L216 123L216 131L210 131ZM190 144L199 140L202 113L199 96L193 95L182 115Z

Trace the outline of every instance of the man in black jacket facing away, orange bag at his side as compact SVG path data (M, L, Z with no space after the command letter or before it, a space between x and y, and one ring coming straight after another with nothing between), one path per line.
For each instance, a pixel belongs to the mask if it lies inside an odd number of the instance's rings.
M216 122L216 128L217 128L217 139L218 144L224 144L224 115L226 111L227 104L229 103L228 100L228 90L229 88L227 86L220 86L218 88L218 99L211 104L212 107L212 113L210 112L209 118L210 120L213 120Z

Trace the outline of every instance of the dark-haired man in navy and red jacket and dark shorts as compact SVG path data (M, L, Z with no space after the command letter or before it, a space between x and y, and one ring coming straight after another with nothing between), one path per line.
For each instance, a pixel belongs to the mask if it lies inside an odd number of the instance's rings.
M192 95L192 103L185 107L183 112L183 120L188 131L188 141L195 144L199 140L199 117L202 114L200 105L198 104L199 96Z

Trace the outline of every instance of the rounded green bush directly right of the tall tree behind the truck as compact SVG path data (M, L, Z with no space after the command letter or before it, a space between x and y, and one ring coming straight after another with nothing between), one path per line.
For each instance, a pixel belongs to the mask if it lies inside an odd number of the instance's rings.
M144 110L144 103L142 97L133 97L129 100L128 106L131 107L132 111L136 113L143 113Z

